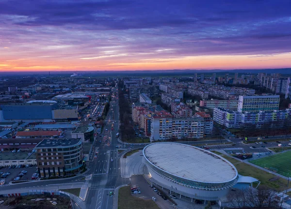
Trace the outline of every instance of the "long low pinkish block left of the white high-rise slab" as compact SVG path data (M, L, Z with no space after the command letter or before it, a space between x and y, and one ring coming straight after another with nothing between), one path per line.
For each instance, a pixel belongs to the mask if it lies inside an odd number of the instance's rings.
M199 106L203 106L209 109L215 107L222 107L225 109L238 109L239 100L200 100Z

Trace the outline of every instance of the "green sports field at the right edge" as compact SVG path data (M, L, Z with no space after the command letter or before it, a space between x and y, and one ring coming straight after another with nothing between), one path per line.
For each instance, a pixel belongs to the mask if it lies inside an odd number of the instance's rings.
M291 151L251 161L286 177L291 177Z

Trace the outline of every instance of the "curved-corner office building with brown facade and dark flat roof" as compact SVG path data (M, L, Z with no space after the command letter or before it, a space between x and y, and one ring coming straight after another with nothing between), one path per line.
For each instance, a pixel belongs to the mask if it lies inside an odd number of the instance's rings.
M35 147L40 177L65 176L79 171L83 161L81 139L44 139Z

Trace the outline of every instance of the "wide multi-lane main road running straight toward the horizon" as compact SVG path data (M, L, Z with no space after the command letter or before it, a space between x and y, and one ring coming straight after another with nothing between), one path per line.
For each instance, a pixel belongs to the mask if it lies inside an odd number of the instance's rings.
M99 143L99 140L102 141L97 145L99 146L97 158L94 158L89 165L93 177L88 184L89 191L86 197L86 208L88 209L113 208L114 194L112 196L109 194L114 192L115 187L122 184L120 170L118 169L118 148L116 148L119 145L116 138L119 130L119 106L116 97L112 97L105 121L106 124L101 133L102 137L97 136L97 143ZM113 130L112 124L114 124ZM108 129L108 133L105 132L106 129ZM110 144L106 144L105 140Z

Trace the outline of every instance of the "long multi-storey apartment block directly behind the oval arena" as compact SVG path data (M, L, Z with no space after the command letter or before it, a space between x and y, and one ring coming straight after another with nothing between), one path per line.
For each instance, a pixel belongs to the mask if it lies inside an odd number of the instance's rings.
M165 118L153 115L151 118L151 141L202 138L203 136L204 119L201 117Z

